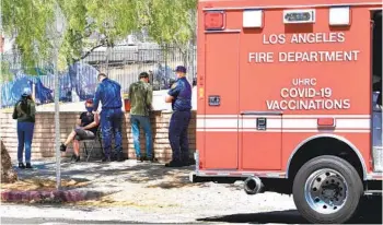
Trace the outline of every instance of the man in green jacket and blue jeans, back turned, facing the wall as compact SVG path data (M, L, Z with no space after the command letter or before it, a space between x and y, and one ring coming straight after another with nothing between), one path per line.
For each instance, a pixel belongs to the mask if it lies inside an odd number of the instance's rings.
M136 157L138 162L150 161L153 162L152 154L152 130L150 123L150 111L152 110L153 91L149 84L149 74L142 72L139 75L139 81L129 86L130 100L130 123L131 133L134 135L134 144L136 150ZM146 133L147 155L141 155L140 150L140 127Z

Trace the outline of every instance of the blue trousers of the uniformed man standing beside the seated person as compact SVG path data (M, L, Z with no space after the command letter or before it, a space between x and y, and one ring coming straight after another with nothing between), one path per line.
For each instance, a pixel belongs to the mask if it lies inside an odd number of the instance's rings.
M120 153L123 151L123 111L120 108L103 109L101 111L101 132L103 134L103 145L105 156L109 157L112 153L112 134L115 138L115 151Z

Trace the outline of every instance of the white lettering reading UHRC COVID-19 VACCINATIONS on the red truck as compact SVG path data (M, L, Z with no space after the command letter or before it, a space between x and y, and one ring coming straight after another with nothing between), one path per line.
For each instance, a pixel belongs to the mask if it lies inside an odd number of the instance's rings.
M332 110L351 107L350 99L332 98L330 87L316 90L316 79L293 79L291 83L292 87L280 90L281 100L266 100L268 110Z

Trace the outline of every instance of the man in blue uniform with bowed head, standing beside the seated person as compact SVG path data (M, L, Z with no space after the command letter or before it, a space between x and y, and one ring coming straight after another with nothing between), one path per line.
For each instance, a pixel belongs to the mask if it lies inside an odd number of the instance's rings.
M121 135L121 123L123 123L123 102L121 102L121 86L109 80L104 73L100 73L100 84L94 96L93 110L96 111L98 104L102 104L101 111L101 132L103 134L103 144L105 151L105 157L103 162L111 162L112 153L112 133L115 137L115 152L118 162L123 162L123 135Z

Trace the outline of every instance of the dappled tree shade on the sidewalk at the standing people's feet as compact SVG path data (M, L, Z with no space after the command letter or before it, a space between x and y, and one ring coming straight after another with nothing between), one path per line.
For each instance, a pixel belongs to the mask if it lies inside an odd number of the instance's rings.
M55 158L49 161L35 162L34 169L19 169L15 171L19 178L30 179L55 179L56 163ZM13 164L15 165L15 164ZM166 168L163 164L137 164L136 161L126 161L123 163L98 163L98 162L81 162L81 163L61 163L61 178L78 181L91 181L93 185L97 182L102 186L114 188L120 182L147 183L146 188L184 188L189 186L201 186L202 183L192 183L188 181L188 174L193 170L190 167ZM116 182L118 180L118 182ZM155 182L151 182L154 181Z

